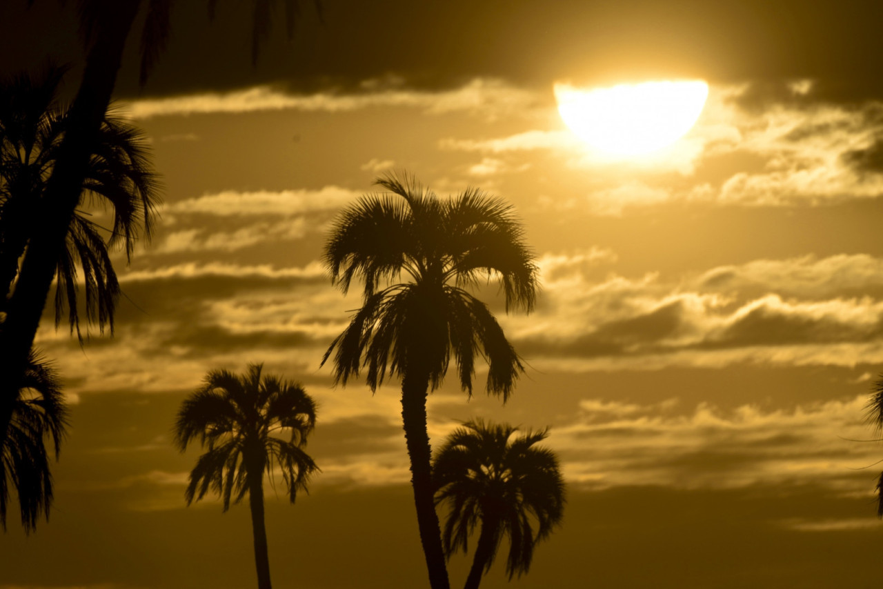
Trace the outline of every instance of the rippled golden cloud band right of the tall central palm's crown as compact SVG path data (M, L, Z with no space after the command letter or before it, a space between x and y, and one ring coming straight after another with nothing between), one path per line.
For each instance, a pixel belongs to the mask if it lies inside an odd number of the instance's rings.
M586 263L592 259L615 261L600 249L541 257L540 309L530 318L502 317L532 362L550 369L563 359L586 360L585 369L855 366L883 352L883 261L865 254L751 261L677 280L614 274L599 281L595 263Z

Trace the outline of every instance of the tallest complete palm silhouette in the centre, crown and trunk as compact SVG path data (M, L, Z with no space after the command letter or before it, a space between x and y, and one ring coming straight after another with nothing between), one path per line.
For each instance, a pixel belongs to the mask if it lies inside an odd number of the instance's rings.
M471 396L480 354L489 365L487 392L505 403L524 366L487 305L466 289L499 279L506 310L530 312L537 267L513 208L502 200L472 188L440 200L407 176L380 177L377 184L391 194L366 196L345 209L325 247L332 283L346 293L358 278L364 293L362 307L322 364L334 352L335 381L343 385L363 368L372 390L387 374L401 378L420 541L433 589L447 589L426 396L441 386L452 356L460 386Z

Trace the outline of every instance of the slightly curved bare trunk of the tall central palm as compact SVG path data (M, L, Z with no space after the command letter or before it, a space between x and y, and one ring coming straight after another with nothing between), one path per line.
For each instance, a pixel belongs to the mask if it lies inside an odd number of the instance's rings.
M416 374L414 374L416 373ZM442 528L435 513L429 434L426 433L426 371L408 371L402 380L402 423L404 440L411 459L411 487L417 508L420 544L426 557L429 585L432 589L449 589L448 569L442 550Z

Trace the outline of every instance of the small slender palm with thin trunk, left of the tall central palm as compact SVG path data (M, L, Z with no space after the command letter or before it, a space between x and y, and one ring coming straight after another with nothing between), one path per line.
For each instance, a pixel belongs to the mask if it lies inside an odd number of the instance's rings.
M316 422L316 404L298 384L261 375L261 364L242 376L212 370L177 413L175 442L182 452L197 439L208 451L190 473L185 499L190 505L208 493L221 495L223 510L248 494L252 509L254 561L259 589L270 589L267 530L264 525L264 472L282 470L289 501L306 491L319 470L303 447ZM285 434L286 438L278 437ZM272 479L271 479L272 480Z

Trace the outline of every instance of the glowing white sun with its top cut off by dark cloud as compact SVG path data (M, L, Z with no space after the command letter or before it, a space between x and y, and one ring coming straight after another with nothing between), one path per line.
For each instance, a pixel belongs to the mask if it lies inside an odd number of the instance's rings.
M570 131L609 155L641 155L680 139L708 97L701 80L643 82L584 89L555 84L558 112Z

